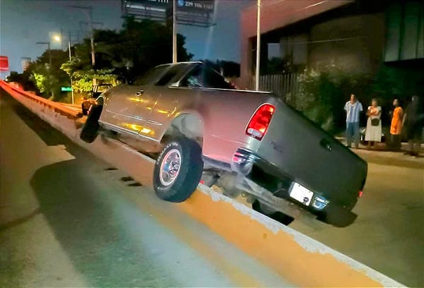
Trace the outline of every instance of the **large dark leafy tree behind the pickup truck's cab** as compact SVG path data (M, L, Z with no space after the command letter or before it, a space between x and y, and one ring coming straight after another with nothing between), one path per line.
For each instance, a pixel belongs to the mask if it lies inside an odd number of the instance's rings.
M91 65L90 40L73 47L73 57L62 66L71 76L74 88L87 91L91 79L131 80L158 64L172 61L172 28L151 20L126 18L122 30L95 30L95 67ZM178 61L189 61L192 54L184 47L185 37L177 35Z

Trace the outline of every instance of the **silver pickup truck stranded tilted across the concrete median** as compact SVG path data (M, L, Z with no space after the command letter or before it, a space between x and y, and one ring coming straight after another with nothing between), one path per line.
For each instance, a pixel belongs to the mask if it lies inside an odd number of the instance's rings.
M367 177L365 161L295 109L269 92L235 90L201 62L160 65L103 92L81 139L105 131L158 153L163 200L182 202L201 181L285 224L300 215L351 224Z

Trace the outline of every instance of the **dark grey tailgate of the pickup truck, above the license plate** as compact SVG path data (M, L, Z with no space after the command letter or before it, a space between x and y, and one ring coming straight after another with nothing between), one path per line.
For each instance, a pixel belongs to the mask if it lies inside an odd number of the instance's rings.
M355 203L365 185L364 160L280 101L256 154L339 205Z

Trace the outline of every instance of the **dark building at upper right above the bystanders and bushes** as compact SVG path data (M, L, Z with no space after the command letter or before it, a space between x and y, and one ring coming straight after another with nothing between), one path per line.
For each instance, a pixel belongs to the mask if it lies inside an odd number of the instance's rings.
M242 11L242 77L254 74L256 5ZM266 0L261 6L261 74L337 66L376 73L382 64L424 67L424 1ZM283 71L281 71L283 72Z

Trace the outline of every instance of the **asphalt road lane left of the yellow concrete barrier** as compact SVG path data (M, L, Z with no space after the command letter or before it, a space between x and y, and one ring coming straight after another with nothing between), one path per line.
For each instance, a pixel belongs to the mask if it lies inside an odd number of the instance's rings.
M0 109L0 287L289 284L3 91Z

